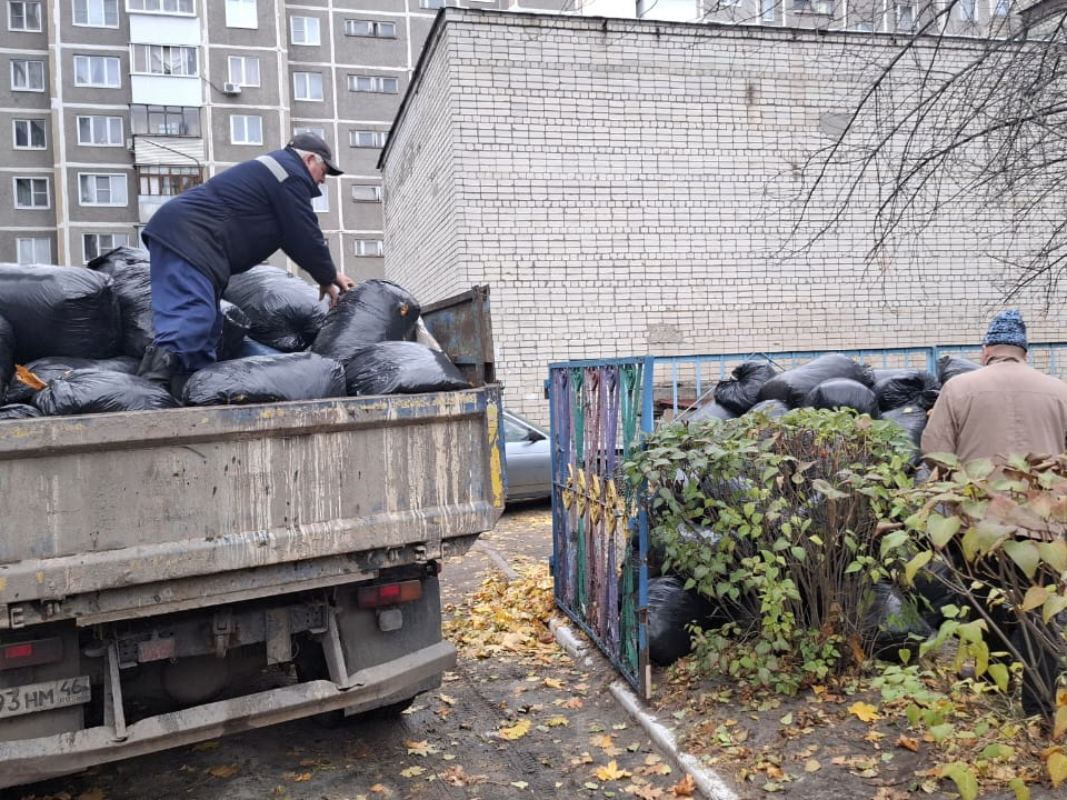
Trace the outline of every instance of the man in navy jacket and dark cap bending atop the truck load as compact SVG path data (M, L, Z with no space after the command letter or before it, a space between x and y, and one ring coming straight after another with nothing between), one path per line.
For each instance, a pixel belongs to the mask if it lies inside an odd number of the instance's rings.
M326 177L342 174L313 133L230 167L152 214L141 237L151 254L156 339L138 374L180 390L210 363L222 334L219 300L230 276L282 250L337 301L355 282L337 271L311 208Z

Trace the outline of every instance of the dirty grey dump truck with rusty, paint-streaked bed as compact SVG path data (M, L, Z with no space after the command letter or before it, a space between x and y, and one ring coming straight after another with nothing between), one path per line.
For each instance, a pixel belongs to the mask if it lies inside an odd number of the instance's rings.
M471 388L0 422L0 788L440 684L506 477L488 289L422 320Z

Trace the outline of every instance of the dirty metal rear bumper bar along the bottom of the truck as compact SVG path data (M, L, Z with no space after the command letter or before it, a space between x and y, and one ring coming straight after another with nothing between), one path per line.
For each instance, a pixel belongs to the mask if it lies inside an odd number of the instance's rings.
M0 742L0 789L70 774L97 763L193 744L348 707L372 709L419 681L456 666L456 648L440 641L349 677L348 690L327 680L205 703L149 717L121 729L111 726Z

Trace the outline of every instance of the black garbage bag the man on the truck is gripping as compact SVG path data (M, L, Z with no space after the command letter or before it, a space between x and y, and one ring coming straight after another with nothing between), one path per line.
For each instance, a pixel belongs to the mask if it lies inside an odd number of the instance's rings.
M409 338L419 320L418 300L396 283L368 280L337 299L311 351L347 364L362 347Z

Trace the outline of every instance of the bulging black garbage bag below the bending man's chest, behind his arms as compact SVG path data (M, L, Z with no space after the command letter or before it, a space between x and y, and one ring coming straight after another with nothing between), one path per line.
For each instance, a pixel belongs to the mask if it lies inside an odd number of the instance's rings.
M282 352L306 350L330 309L318 287L270 264L230 278L222 299L245 312L252 339Z

